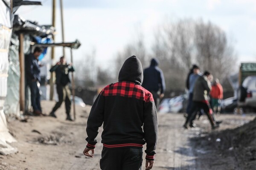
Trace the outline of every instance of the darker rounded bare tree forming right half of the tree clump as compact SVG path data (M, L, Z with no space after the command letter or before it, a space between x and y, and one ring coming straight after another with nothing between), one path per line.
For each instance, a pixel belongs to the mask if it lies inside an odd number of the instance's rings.
M236 54L226 33L218 26L200 20L195 26L196 59L203 70L223 80L236 65Z

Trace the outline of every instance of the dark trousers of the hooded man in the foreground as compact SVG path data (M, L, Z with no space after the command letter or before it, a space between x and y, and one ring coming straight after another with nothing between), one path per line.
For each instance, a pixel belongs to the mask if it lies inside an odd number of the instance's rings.
M139 147L103 147L100 168L101 170L141 170L142 155L142 148Z

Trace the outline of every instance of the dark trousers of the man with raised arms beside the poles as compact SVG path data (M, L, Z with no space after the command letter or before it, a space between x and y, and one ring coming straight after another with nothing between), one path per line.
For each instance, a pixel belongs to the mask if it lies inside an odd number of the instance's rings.
M52 112L57 111L57 109L61 107L62 102L65 101L66 113L67 115L69 115L71 108L71 100L70 89L68 85L56 85L56 90L58 93L58 102L56 102L54 108L52 109Z

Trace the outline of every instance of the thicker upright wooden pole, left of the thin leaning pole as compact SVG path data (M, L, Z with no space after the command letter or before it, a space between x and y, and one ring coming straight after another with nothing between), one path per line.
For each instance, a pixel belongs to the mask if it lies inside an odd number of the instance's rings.
M56 0L52 0L52 26L55 28L55 5L56 5ZM54 34L52 35L52 40L54 42ZM54 60L54 47L52 47L52 54L51 54L51 58L52 61ZM53 63L52 63L53 65ZM50 78L50 100L53 99L53 92L54 92L54 81L53 81L53 77L54 77L54 72L51 73L51 78Z

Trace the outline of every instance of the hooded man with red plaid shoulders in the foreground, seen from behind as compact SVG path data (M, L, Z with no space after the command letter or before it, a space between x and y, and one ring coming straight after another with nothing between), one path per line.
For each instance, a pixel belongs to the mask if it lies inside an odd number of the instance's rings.
M152 94L141 86L142 80L140 60L129 57L122 65L118 82L103 88L91 108L84 155L93 157L98 129L103 123L102 170L141 170L145 143L146 170L153 167L157 110Z

